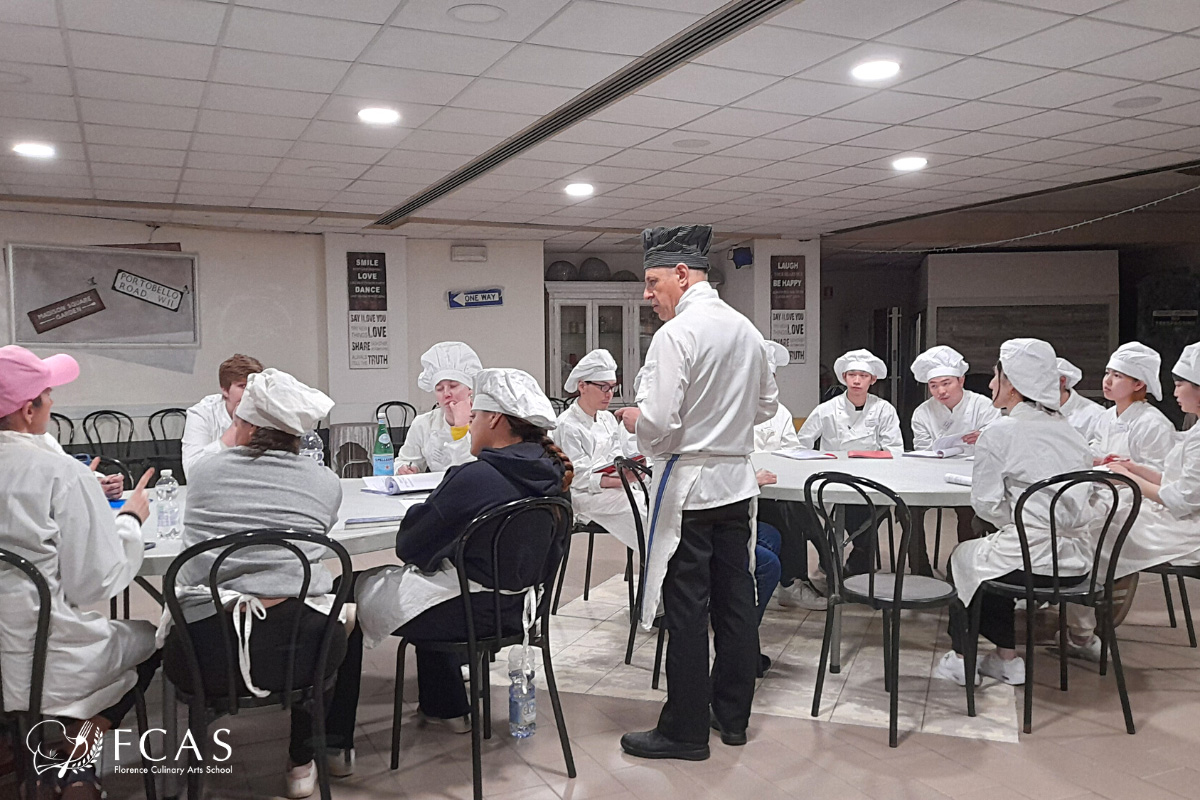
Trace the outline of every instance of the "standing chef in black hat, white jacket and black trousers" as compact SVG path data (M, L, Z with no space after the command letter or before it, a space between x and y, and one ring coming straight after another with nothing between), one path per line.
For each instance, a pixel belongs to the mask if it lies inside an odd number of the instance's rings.
M754 426L775 415L778 392L762 336L708 283L712 237L708 225L642 231L644 296L666 324L638 373L637 405L617 411L655 464L642 627L661 600L671 633L659 724L620 740L641 758L708 758L709 705L721 740L745 744L754 698L758 485L750 453Z

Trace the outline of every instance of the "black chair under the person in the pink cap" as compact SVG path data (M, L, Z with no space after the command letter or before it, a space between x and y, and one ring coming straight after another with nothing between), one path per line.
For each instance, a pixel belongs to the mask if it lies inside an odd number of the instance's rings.
M34 632L34 651L30 657L29 702L25 704L25 710L8 711L5 709L4 692L0 691L0 721L11 723L17 734L13 751L19 770L18 778L25 784L25 796L34 798L37 796L37 772L34 768L34 752L42 744L42 728L38 723L42 721L42 684L46 678L46 655L50 638L50 588L36 566L12 551L0 548L0 564L7 564L10 567L23 572L29 582L34 584L34 591L37 594L37 625ZM4 680L0 678L0 686L2 685ZM145 696L137 688L134 688L134 708L137 709L138 730L145 733L150 729L146 702ZM25 746L26 742L28 747ZM142 765L144 768L143 786L146 799L155 800L157 792L155 790L154 775L150 771L151 764L143 757Z

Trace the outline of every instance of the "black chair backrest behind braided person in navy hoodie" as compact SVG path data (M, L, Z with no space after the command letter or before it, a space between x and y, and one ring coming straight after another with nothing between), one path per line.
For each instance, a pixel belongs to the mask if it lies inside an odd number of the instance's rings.
M566 539L571 535L571 504L564 498L527 498L485 511L472 521L455 547L468 642L478 642L469 588L472 579L491 590L487 594L491 596L494 636L490 638L498 642L506 633L502 618L504 596L521 594L532 587L541 590L538 618L542 626L548 624L551 588L563 567ZM475 560L470 555L481 551L490 561L491 585L479 581L484 576L469 575L473 571L470 563Z

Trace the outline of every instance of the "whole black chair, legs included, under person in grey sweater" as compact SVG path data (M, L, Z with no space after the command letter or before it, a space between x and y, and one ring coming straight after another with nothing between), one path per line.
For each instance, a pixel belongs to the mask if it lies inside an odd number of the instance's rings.
M283 710L289 710L295 703L306 705L312 714L313 739L317 751L317 781L320 786L320 796L322 800L330 800L329 765L325 762L325 693L326 691L332 690L334 682L337 680L337 670L335 669L332 670L332 674L330 674L330 670L326 669L326 662L329 660L329 648L334 632L341 627L341 622L337 621L337 618L342 612L342 606L346 603L347 596L349 595L352 582L338 582L334 593L334 604L330 608L329 619L325 622L325 630L322 634L320 649L317 652L313 673L311 675L294 674L296 660L296 634L300 627L300 616L298 615L295 626L292 630L292 643L288 649L292 654L292 658L284 667L284 687L282 691L271 692L265 697L256 697L254 694L251 694L242 684L238 667L238 655L234 649L234 638L229 632L230 626L228 625L221 626L223 652L204 654L205 661L209 662L216 658L223 660L227 688L226 692L218 697L208 697L205 694L200 662L197 657L192 637L188 633L187 621L184 619L184 610L179 604L179 597L175 594L175 578L179 575L179 570L185 564L202 553L221 549L222 552L216 557L212 561L212 566L209 569L208 585L212 604L216 608L217 614L224 615L227 612L222 607L221 597L217 594L221 566L224 564L224 560L238 551L247 547L278 547L290 552L300 560L301 569L304 570L304 579L301 581L300 590L295 596L301 599L306 597L308 595L312 569L308 564L308 557L305 555L304 551L300 549L296 542L308 542L325 547L331 551L341 563L342 575L352 575L353 566L350 564L350 557L346 552L344 547L329 536L294 530L251 530L240 534L230 534L229 536L221 536L220 539L199 542L198 545L188 547L170 563L170 566L167 569L167 575L162 581L163 596L167 601L167 608L170 612L175 631L179 634L184 655L187 658L187 670L191 676L191 687L188 692L184 692L179 687L176 687L175 691L187 704L187 727L192 738L196 740L196 745L199 750L199 760L203 763L209 760L209 750L211 746L208 735L209 724L220 717L227 714L235 715L240 709L280 705ZM187 774L187 796L191 800L200 800L200 798L204 796L203 763L194 764L193 766L197 769Z

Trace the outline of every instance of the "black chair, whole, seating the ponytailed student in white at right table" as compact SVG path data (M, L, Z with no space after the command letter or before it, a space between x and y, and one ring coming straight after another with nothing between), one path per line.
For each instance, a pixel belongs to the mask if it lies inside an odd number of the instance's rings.
M1112 545L1112 552L1109 557L1108 572L1104 576L1100 576L1100 555L1103 553L1104 542L1112 527L1112 518L1117 511L1118 483L1123 483L1133 489L1133 498L1130 500L1129 515L1126 517L1124 524L1121 525L1121 530ZM1085 485L1090 486L1091 491L1099 491L1102 493L1104 489L1108 489L1110 493L1111 505L1108 515L1105 516L1104 527L1100 529L1099 536L1092 536L1088 534L1090 539L1094 541L1096 555L1093 557L1092 569L1087 579L1081 583L1064 587L1062 585L1061 576L1058 575L1058 531L1055 515L1063 494L1074 487ZM1100 489L1100 486L1103 486L1104 489ZM1051 585L1045 588L1033 585L1033 565L1030 557L1030 540L1025 530L1025 504L1038 492L1054 493L1050 499L1049 511L1051 554L1051 575L1049 577L1051 578ZM1075 494L1078 495L1079 493L1076 492ZM1016 535L1021 542L1021 560L1025 571L1025 583L1012 584L1003 583L1001 581L984 581L979 585L970 608L971 615L967 630L967 651L964 654L966 660L966 663L964 664L966 674L968 676L974 675L976 655L979 650L979 593L990 593L1004 597L1012 597L1014 600L1025 600L1026 608L1037 608L1038 603L1043 602L1052 603L1058 608L1060 642L1064 642L1067 637L1067 603L1091 606L1096 609L1097 626L1100 634L1100 674L1104 675L1108 672L1108 650L1111 648L1112 670L1116 673L1117 678L1117 692L1121 694L1121 710L1124 714L1126 732L1130 734L1135 733L1133 711L1129 708L1129 693L1126 691L1124 670L1121 667L1121 652L1117 650L1116 627L1112 625L1112 582L1117 569L1117 561L1121 558L1121 548L1124 546L1124 540L1129 535L1129 529L1133 527L1134 519L1138 518L1138 511L1140 509L1141 491L1138 488L1138 483L1132 479L1126 477L1124 475L1117 475L1116 473L1099 470L1066 473L1063 475L1048 477L1044 481L1038 481L1025 489L1025 492L1021 493L1021 497L1016 500L1016 507L1013 510L1013 522L1016 525ZM1033 628L1036 616L1037 615L1032 613L1027 613L1025 615L1025 733L1032 733L1033 727L1033 655L1036 651L1036 648L1033 646ZM1058 648L1058 687L1064 692L1067 691L1067 650L1062 646ZM967 715L976 715L974 681L970 679L967 680Z

